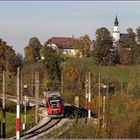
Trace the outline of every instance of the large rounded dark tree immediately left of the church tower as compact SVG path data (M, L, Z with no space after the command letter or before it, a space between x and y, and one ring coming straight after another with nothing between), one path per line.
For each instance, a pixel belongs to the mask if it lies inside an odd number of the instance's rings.
M94 45L94 57L97 64L107 65L112 61L111 49L113 49L113 41L107 28L101 27L96 30L96 42Z

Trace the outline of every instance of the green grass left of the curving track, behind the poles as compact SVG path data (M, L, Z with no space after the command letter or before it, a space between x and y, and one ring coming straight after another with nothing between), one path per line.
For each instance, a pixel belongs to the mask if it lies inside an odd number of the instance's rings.
M1 102L1 101L0 101ZM35 111L27 110L26 116L26 130L35 124ZM24 111L21 109L21 135L24 134L22 124L24 123ZM0 127L2 136L2 108L0 109ZM16 103L13 101L6 101L6 138L16 136Z

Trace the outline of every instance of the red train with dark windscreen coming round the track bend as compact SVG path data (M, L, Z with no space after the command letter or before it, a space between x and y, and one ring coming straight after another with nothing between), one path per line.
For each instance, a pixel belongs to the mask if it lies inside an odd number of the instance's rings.
M46 109L50 118L64 116L64 100L59 91L48 91L45 94Z

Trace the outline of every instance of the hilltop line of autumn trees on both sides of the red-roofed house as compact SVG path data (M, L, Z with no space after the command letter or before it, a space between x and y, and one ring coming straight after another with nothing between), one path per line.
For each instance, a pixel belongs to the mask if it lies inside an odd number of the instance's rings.
M134 65L140 64L140 27L136 33L132 28L127 29L126 41L119 41L119 50L115 51L113 38L106 27L98 28L95 32L96 39L91 41L86 34L77 38L75 48L79 50L77 56L93 57L99 65ZM45 65L51 79L60 79L60 64L65 59L62 54L47 46L42 45L37 37L32 37L24 48L24 58L15 53L12 46L0 39L0 70L8 70L15 74L18 66L41 63Z

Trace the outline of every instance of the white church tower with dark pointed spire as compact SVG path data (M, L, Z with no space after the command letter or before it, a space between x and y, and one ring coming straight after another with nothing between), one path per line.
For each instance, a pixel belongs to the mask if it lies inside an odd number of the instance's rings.
M120 39L119 22L116 15L115 22L114 22L114 30L113 30L113 42L117 43L119 39Z

